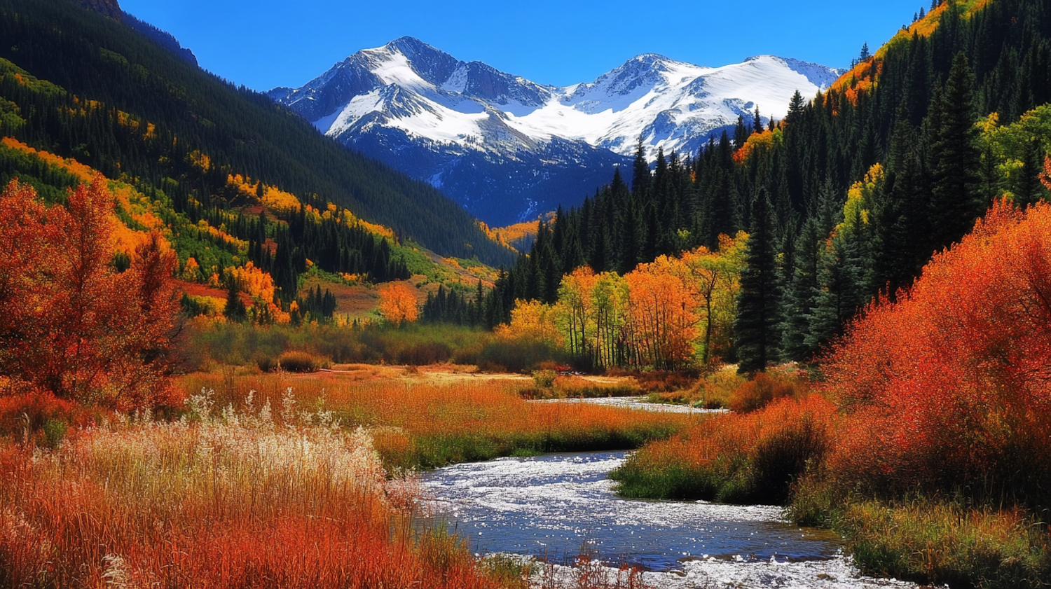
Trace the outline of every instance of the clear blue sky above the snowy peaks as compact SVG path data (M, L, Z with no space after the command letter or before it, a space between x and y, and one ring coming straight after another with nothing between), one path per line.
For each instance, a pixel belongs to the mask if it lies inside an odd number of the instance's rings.
M302 86L401 36L540 84L590 82L646 52L718 66L771 54L849 66L927 0L120 0L206 69L259 90ZM651 8L646 8L651 6Z

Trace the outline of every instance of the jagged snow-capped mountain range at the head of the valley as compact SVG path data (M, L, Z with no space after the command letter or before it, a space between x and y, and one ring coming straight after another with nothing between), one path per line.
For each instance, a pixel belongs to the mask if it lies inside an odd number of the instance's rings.
M403 37L270 97L504 225L581 202L639 138L651 156L695 153L738 115L750 121L757 105L780 119L796 90L811 97L839 75L772 56L702 67L648 54L592 83L555 87Z

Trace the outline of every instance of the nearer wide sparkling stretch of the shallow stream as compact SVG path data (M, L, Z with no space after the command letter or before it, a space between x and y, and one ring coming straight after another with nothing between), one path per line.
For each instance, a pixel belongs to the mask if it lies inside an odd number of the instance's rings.
M609 472L623 451L504 458L424 476L435 518L477 553L572 561L580 553L651 571L656 587L908 587L858 576L839 539L772 506L624 500Z

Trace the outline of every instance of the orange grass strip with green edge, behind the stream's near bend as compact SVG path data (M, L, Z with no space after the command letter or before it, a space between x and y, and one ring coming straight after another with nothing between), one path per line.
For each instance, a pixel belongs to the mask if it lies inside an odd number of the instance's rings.
M365 373L365 371L360 371ZM534 403L520 397L531 380L433 375L373 378L370 374L199 374L184 390L217 391L227 403L255 391L279 399L292 388L295 411L328 411L345 424L369 428L389 468L435 467L499 456L625 449L664 439L697 422L585 403Z

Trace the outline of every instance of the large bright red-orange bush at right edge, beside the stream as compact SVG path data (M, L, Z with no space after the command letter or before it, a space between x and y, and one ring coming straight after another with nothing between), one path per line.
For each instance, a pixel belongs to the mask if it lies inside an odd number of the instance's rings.
M844 480L1051 480L1051 206L997 202L898 302L869 308L824 373L851 413L831 461Z

